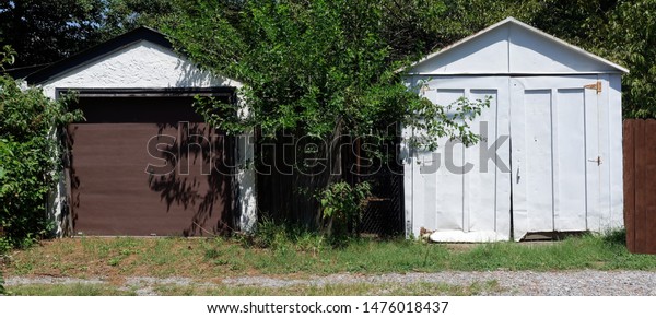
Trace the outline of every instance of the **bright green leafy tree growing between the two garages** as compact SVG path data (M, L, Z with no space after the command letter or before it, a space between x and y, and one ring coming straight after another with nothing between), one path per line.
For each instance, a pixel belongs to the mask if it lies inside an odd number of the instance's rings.
M165 32L202 68L245 84L239 91L243 105L198 103L209 122L227 131L257 128L263 137L259 141L285 131L319 140L318 144L327 144L324 153L335 153L340 144L331 141L342 136L382 144L396 138L388 128L397 122L425 128L427 146L444 136L475 142L468 119L480 114L484 102L434 105L402 84L396 70L407 64L405 57L417 57L423 45L393 42L384 27L395 14L390 10L398 10L393 4L199 0ZM424 7L406 7L412 8ZM410 19L413 12L406 9L398 11ZM405 36L411 37L412 30L403 31ZM239 116L242 106L247 116ZM296 163L304 155L298 153ZM341 156L331 158L336 163L330 166L341 166ZM340 179L332 175L328 182Z

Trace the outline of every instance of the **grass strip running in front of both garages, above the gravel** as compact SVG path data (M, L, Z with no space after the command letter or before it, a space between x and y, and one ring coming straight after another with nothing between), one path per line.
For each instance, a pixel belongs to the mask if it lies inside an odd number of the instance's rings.
M262 238L257 238L262 239ZM340 272L388 273L489 270L656 270L656 256L632 255L622 233L583 235L547 244L424 244L352 239L332 247L321 236L273 231L254 238L63 238L10 252L5 275L72 278L238 275L309 276Z

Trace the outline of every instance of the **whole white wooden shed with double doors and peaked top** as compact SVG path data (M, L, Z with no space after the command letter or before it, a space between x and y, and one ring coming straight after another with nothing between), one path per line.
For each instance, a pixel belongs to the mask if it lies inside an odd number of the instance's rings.
M625 68L508 17L407 72L440 105L492 98L472 123L478 144L403 143L408 235L519 240L622 226ZM405 140L417 133L406 128Z

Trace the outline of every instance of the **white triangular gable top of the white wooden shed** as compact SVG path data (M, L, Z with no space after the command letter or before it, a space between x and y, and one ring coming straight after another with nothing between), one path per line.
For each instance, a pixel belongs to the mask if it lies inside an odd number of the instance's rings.
M406 68L410 74L628 73L629 70L514 17Z

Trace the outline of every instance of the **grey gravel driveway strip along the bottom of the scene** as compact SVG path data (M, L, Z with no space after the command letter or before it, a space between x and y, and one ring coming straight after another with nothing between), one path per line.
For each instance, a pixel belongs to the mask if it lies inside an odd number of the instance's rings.
M269 276L241 276L224 279L223 284L232 286L285 287L297 284L327 285L355 283L395 283L410 284L418 282L443 283L448 285L470 285L476 282L494 281L500 291L495 295L544 295L544 296L656 296L656 272L646 271L492 271L492 272L438 272L438 273L407 273L407 274L333 274L309 279L277 279ZM70 279L70 278L7 278L5 285L22 284L72 284L72 283L106 283L103 279ZM128 278L124 287L137 287L138 295L155 295L152 286L157 284L176 285L215 285L194 282L185 278Z

